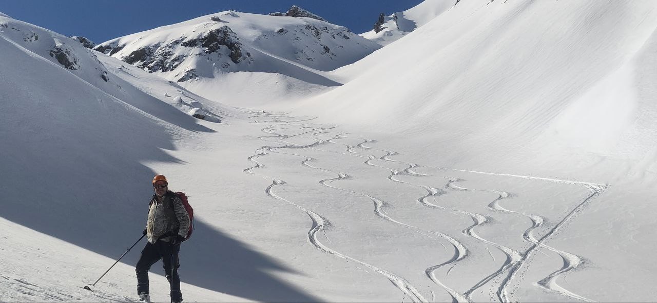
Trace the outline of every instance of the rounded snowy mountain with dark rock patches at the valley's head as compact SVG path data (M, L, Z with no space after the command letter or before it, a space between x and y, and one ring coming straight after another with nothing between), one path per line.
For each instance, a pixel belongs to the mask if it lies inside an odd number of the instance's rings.
M237 101L244 98L300 98L340 85L321 71L380 48L344 26L305 17L309 14L229 10L112 39L95 49L228 104L244 105ZM244 82L248 92L231 89Z

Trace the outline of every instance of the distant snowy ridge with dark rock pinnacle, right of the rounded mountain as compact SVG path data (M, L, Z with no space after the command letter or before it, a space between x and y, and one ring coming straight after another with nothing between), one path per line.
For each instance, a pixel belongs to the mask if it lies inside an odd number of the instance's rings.
M389 16L381 13L373 29L361 33L362 37L380 45L388 45L433 20L445 10L455 6L455 0L427 0L403 12Z

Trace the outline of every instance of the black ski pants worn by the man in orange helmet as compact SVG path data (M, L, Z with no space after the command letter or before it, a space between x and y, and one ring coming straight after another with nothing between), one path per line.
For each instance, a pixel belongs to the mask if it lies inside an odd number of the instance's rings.
M137 295L149 293L148 270L150 270L150 266L162 259L164 274L169 280L169 285L171 285L171 300L173 302L182 300L183 295L180 293L180 278L178 277L179 252L180 243L176 245L171 245L171 243L165 241L157 241L155 244L146 243L146 247L141 251L141 256L135 268L135 272L137 272Z

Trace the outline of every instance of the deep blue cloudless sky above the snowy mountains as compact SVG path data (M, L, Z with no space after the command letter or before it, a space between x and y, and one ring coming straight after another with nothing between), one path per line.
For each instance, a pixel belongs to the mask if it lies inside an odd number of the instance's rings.
M0 0L0 12L62 35L81 35L101 43L158 26L223 10L266 14L292 5L309 10L354 33L372 29L378 14L410 9L422 0Z

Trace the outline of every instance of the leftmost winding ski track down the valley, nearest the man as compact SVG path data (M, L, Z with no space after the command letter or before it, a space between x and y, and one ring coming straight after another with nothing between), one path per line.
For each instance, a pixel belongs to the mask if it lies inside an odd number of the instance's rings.
M258 117L258 115L256 114L256 116L253 116L253 117ZM252 117L250 117L250 118L252 118ZM309 120L311 120L311 119L309 119ZM300 122L300 121L287 122L287 121L274 120L274 121L271 121L271 122L284 122L285 124L289 124L289 123L297 123L297 122ZM258 122L258 123L267 123L267 121ZM260 140L267 140L265 138L283 138L283 137L284 138L289 138L290 137L290 136L286 136L286 135L282 135L282 134L277 134L277 132L274 129L271 129L272 126L275 126L275 125L270 125L269 127L265 128L265 129L261 129L261 131L269 133L269 134L275 134L275 136L261 136L261 137L259 137ZM308 132L316 132L316 131L321 131L321 130L330 129L330 128L333 128L333 127L313 128L311 131L302 132L302 133L296 134L294 136L300 136L300 135L306 134ZM269 141L269 140L267 140L267 141ZM289 142L286 142L286 143L289 143ZM281 152L275 151L275 150L279 149L279 148L313 148L313 147L315 147L319 144L322 144L322 143L323 143L322 140L315 140L315 142L313 144L310 144L308 146L300 146L298 144L288 144L288 145L285 145L285 146L263 146L263 147L259 148L258 150L256 150L256 152L259 151L259 150L265 149L265 150L268 150L268 151L271 151L271 152L281 153ZM266 153L260 152L260 153L257 153L256 155L252 155L252 156L248 157L248 160L256 163L256 166L250 167L248 169L244 169L244 172L247 172L247 173L250 173L250 174L256 174L256 173L252 172L251 170L263 167L264 165L262 165L261 163L258 163L258 161L256 161L255 158L259 157L260 155L264 155L264 154L266 154ZM346 259L346 260L351 260L353 262L357 262L358 264L361 264L361 265L363 265L363 266L365 266L365 267L367 267L371 270L374 270L374 272L377 272L381 275L384 275L386 278L388 278L388 280L393 285L395 285L398 289L400 289L406 296L409 296L409 298L411 298L411 300L413 300L413 302L428 302L422 296L422 294L420 294L419 291L417 291L417 289L415 289L415 287L413 287L413 285L411 285L408 281L406 281L402 277L399 277L399 276L395 275L394 273L388 272L386 270L382 270L380 268L377 268L376 266L373 266L371 264L367 264L363 261L352 258L351 256L347 256L346 254L342 254L342 253L339 253L338 251L334 251L334 250L328 248L323 243L321 243L321 241L319 241L319 239L317 238L317 233L321 232L321 231L325 231L325 229L328 228L328 226L330 226L330 223L328 222L328 220L323 218L321 215L319 215L319 214L317 214L313 211L310 211L310 210L302 207L301 205L298 205L298 204L296 204L292 201L289 201L288 199L285 199L284 197L281 197L281 196L277 195L276 193L274 193L273 188L275 186L283 186L285 184L285 182L283 180L278 180L277 178L272 178L272 177L269 177L269 176L264 176L264 177L268 178L268 179L271 179L272 182L273 182L270 186L268 186L265 189L265 192L267 193L267 195L269 195L269 196L271 196L275 199L278 199L278 200L284 201L286 203L289 203L291 205L294 205L295 207L297 207L301 211L305 212L307 214L307 216L309 216L309 218L312 220L313 226L308 231L307 239L309 240L309 242L314 247L316 247L317 249L319 249L319 250L321 250L325 253L329 253L329 254L332 254L334 256L338 256L340 258Z

